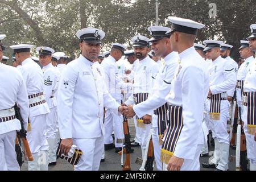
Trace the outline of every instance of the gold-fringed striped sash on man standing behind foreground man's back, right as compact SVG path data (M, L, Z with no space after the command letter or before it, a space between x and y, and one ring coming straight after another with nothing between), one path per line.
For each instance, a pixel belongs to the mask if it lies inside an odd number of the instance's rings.
M210 96L210 119L220 120L221 101L226 99L227 98L221 98L221 93L212 94Z

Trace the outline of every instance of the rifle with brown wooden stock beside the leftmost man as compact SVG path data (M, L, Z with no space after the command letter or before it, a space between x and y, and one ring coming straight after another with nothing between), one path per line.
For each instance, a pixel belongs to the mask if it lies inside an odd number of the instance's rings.
M21 129L19 131L17 131L17 136L18 136L18 138L22 139L23 146L24 146L25 152L27 154L27 160L33 161L34 159L32 157L31 151L30 151L30 146L28 145L28 142L27 142L27 131L24 129L23 119L22 119L22 116L20 114L19 107L17 104L15 104L14 110L15 110L16 118L19 119L20 125L21 125ZM26 157L26 155L25 155L25 157Z

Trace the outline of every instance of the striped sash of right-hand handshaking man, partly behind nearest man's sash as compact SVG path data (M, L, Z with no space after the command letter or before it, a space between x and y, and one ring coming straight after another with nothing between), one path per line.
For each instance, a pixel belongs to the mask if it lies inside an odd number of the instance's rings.
M163 145L163 133L166 130L169 120L170 105L168 103L154 110L154 114L158 116L158 142L159 146Z

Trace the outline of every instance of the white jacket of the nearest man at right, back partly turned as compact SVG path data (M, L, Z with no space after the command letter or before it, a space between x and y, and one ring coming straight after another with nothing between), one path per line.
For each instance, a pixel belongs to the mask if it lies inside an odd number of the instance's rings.
M204 102L209 92L207 63L194 47L179 54L180 64L174 73L166 101L183 107L183 129L176 143L174 155L195 159L197 145L204 144Z

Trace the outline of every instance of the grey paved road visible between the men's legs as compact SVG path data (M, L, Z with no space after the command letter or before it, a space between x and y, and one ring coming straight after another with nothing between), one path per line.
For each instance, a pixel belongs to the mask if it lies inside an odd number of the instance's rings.
M134 138L135 127L132 120L129 120L129 127L130 127L131 138ZM210 146L209 151L210 151L210 154L212 155L213 155L213 150L214 148ZM236 155L236 151L230 148L230 155ZM135 160L137 159L138 156L141 157L141 147L134 147L134 153L131 154L131 169L133 171L137 171L140 168L140 166L135 163ZM123 160L125 160L125 158ZM209 160L209 157L200 158L200 163L208 162L208 160ZM121 163L121 156L119 156L118 154L115 154L114 149L105 151L105 162L101 163L100 171L120 171L122 170L120 163ZM235 163L229 162L229 170L234 171L235 169L236 169ZM23 171L27 170L27 162L23 163L22 170ZM49 171L72 171L72 170L73 170L73 166L67 163L64 159L58 159L56 166L49 167ZM201 167L200 170L213 171L214 169L207 169L207 168Z

